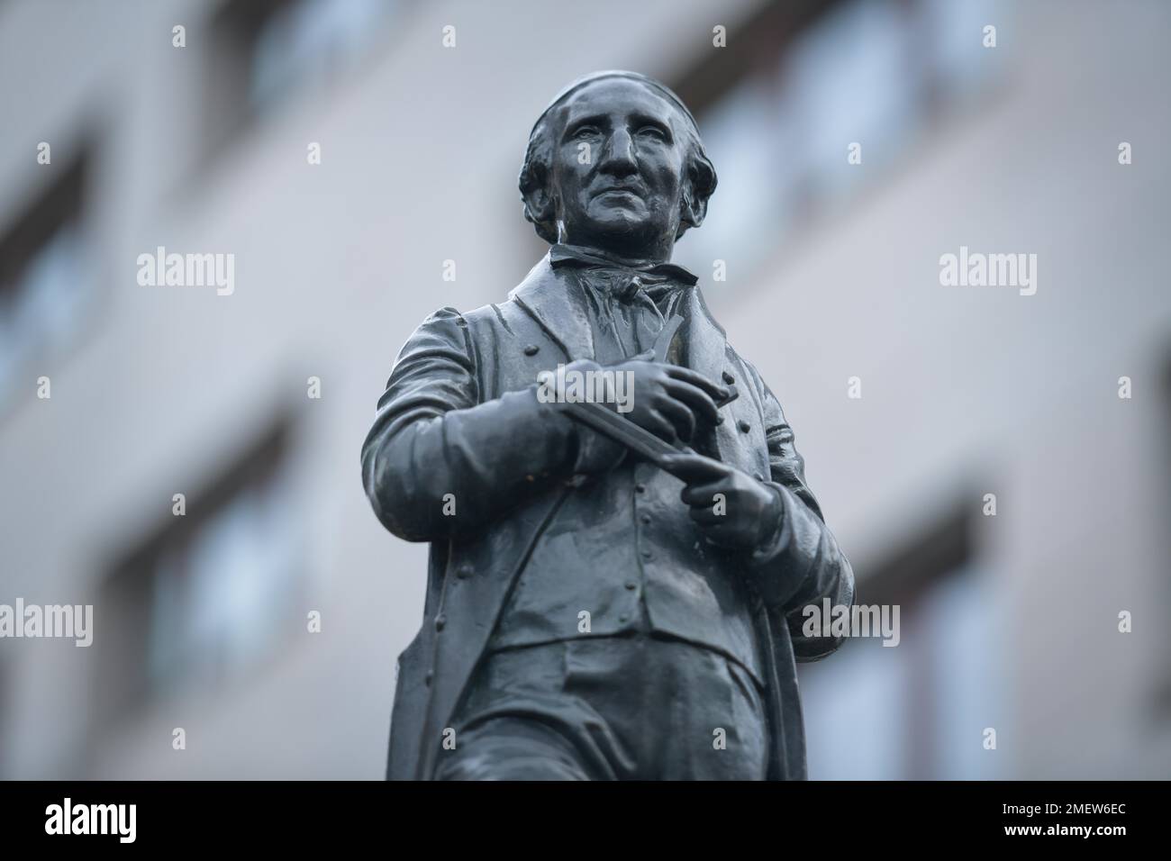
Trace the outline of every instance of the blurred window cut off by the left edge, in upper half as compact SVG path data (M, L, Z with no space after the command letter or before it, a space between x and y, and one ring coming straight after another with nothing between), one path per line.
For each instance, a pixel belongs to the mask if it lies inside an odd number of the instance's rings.
M43 170L53 184L0 235L0 404L48 374L22 376L77 335L94 295L82 230L85 157Z

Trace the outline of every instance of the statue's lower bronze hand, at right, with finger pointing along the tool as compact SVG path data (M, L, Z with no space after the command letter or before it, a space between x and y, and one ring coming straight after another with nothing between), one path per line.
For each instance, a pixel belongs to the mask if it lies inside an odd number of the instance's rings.
M691 519L712 544L755 551L775 534L781 504L761 481L703 455L669 459L671 473L686 483L679 496L691 507Z

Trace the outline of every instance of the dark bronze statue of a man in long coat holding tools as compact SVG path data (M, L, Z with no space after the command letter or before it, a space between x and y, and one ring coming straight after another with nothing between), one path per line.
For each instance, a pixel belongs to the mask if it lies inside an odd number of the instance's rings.
M362 477L386 528L431 555L389 778L806 775L795 661L841 641L804 636L802 609L849 606L854 575L780 404L670 262L714 189L671 90L574 82L520 175L548 255L399 354ZM621 375L624 409L587 406L665 453L542 396L559 365Z

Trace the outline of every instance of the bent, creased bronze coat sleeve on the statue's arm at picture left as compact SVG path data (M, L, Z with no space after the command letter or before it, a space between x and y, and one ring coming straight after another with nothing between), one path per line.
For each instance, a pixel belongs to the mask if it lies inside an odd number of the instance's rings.
M481 402L467 321L443 308L411 335L362 446L382 524L408 541L467 538L574 470L578 435L536 383Z

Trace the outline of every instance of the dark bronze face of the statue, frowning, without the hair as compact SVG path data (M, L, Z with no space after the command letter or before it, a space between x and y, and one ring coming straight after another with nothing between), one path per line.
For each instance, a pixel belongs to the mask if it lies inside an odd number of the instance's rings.
M679 230L686 122L636 81L605 78L570 96L552 129L561 240L669 258Z

